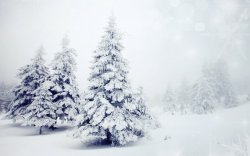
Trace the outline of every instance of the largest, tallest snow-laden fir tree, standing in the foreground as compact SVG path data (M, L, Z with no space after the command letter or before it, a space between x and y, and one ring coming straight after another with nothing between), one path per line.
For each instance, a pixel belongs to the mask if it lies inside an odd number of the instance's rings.
M83 108L85 115L74 133L74 137L82 141L91 139L125 145L144 135L146 109L140 98L133 97L120 40L111 17L95 51Z

